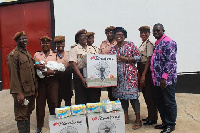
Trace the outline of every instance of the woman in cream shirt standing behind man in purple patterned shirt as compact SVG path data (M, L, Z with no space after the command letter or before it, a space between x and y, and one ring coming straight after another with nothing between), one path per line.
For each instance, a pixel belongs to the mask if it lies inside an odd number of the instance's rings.
M153 99L153 83L150 71L150 59L153 54L153 43L149 41L150 27L142 26L139 28L142 44L139 47L141 60L138 62L138 71L141 76L140 88L147 104L148 117L143 125L153 125L157 123L157 108Z

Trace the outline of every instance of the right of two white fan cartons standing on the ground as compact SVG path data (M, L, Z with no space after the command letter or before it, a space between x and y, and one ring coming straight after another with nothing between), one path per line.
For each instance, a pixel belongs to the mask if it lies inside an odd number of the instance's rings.
M125 133L124 112L87 115L90 133Z

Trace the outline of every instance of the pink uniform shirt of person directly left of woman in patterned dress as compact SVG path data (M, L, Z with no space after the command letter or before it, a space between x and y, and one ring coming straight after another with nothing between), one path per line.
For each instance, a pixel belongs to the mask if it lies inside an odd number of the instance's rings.
M110 48L115 46L116 44L116 41L112 41L112 43L110 43L108 39L103 41L100 45L100 54L109 54Z

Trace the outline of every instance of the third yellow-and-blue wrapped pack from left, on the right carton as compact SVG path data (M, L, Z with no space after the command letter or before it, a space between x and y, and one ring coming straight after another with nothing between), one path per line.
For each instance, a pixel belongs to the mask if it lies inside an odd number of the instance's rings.
M87 103L87 113L100 113L102 111L102 103Z

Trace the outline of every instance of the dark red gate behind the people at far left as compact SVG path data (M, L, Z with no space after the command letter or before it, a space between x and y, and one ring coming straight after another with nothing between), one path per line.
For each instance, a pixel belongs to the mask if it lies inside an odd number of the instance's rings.
M27 49L33 56L41 50L39 38L51 35L50 1L0 5L0 50L3 77L3 89L10 88L6 62L8 53L16 47L13 36L25 31L28 38Z

